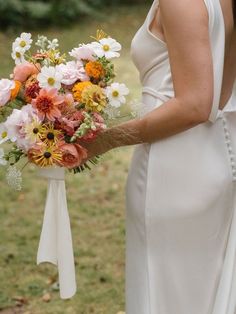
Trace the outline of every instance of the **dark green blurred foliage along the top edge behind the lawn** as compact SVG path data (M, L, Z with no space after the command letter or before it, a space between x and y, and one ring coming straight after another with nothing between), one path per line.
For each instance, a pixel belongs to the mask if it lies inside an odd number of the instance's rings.
M0 0L0 27L65 26L86 16L99 15L104 6L142 3L142 0Z

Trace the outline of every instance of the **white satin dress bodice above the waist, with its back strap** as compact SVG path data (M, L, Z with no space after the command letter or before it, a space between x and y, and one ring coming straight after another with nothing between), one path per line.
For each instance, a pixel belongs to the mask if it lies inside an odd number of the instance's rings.
M204 2L209 16L214 71L214 99L209 120L214 122L218 114L223 79L225 25L220 0L204 0ZM159 0L154 0L143 25L131 42L131 57L140 73L144 113L174 97L167 43L150 31L158 5Z

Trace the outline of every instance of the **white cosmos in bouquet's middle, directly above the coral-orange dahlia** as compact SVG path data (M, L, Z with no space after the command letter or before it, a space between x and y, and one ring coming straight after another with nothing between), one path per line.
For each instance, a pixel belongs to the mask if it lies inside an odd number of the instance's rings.
M61 81L63 79L62 73L59 71L60 68L52 66L44 66L41 69L41 73L38 74L37 80L41 88L61 88Z

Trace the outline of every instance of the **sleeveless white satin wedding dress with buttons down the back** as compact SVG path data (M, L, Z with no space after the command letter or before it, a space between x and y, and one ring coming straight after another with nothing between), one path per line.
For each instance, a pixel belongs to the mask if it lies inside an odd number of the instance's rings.
M219 0L204 0L214 64L209 121L137 145L127 180L126 314L236 313L236 95L218 109L225 29ZM149 29L131 54L143 114L174 96L168 50Z

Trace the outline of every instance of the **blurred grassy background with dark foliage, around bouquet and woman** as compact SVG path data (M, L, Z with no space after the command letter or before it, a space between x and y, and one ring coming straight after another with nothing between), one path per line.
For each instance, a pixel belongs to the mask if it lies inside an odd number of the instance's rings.
M115 61L117 81L139 99L138 73L130 42L152 1L0 0L0 77L13 70L11 44L22 31L58 38L61 52L91 41L103 29L123 46ZM23 189L12 191L0 168L0 313L116 314L123 312L125 266L125 181L132 149L108 153L91 171L67 175L78 293L59 298L57 271L36 266L47 183L33 167L23 172Z

